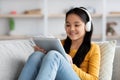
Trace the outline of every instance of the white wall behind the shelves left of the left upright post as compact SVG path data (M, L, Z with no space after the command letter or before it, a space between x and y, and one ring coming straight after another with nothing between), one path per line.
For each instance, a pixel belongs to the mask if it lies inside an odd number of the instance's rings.
M0 14L9 14L16 11L17 14L25 10L43 8L43 0L0 0ZM0 18L0 35L9 33L8 18ZM43 33L43 18L14 18L15 35L36 35Z

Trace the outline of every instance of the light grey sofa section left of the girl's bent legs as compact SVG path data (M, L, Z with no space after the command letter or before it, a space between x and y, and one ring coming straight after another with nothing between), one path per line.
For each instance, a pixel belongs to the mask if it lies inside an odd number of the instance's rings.
M30 40L0 41L0 80L17 80L17 77L33 52Z

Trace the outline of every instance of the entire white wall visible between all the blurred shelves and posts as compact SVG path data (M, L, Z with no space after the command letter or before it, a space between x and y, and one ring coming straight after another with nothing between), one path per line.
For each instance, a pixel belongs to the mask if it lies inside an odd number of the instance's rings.
M113 4L112 0L108 1L107 10L120 11L120 1L115 0ZM0 0L0 13L8 14L12 10L16 10L17 13L22 13L25 10L41 8L43 7L43 0ZM116 6L117 5L117 6ZM48 0L48 14L64 13L65 9L71 7L94 7L96 13L103 12L103 5L101 0ZM118 7L119 6L119 7ZM116 8L117 7L117 8ZM119 23L119 18L117 19ZM15 18L15 34L18 35L38 35L43 33L44 21L43 18ZM102 21L101 18L93 18L94 34L102 33ZM119 29L118 29L119 30ZM8 34L9 26L7 18L0 18L0 35ZM64 17L63 18L49 18L48 19L48 33L50 34L62 34L64 30Z

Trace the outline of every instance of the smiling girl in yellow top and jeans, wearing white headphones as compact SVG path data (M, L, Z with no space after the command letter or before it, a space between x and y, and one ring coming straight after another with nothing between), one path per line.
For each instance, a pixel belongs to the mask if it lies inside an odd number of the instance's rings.
M69 62L57 51L46 53L35 47L18 80L98 80L100 49L91 43L92 19L83 8L73 8L66 13L67 38L62 41Z

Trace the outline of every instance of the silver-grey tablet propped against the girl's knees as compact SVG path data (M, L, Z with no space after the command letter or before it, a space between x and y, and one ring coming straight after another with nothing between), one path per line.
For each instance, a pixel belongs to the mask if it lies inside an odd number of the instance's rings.
M47 52L50 50L56 50L58 52L60 52L65 59L67 59L66 57L66 52L63 48L63 45L60 41L60 39L58 38L34 38L33 39L35 44L40 46L41 48L45 49Z

